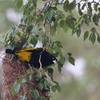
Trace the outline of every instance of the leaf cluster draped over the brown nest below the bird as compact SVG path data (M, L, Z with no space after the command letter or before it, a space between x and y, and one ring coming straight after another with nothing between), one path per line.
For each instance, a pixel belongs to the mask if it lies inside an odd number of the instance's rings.
M49 68L48 73L53 74L53 69ZM28 87L27 93L22 89L22 87L25 88L25 86ZM36 100L49 100L51 90L53 92L61 92L61 88L57 82L52 81L49 76L43 75L42 72L30 68L24 75L16 79L12 86L11 93L13 96L16 94L19 95L21 100L27 100L27 94Z

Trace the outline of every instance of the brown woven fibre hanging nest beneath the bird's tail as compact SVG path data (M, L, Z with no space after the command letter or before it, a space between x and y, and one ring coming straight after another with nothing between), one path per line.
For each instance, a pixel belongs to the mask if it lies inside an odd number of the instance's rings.
M20 94L22 94L22 91L26 94L27 100L35 100L31 97L30 95L31 90L26 84L23 84L21 86L19 93L17 93L15 96L12 96L11 94L11 88L14 82L16 81L16 79L19 76L24 75L24 73L27 71L27 67L25 66L25 64L23 64L22 62L20 62L15 58L11 60L9 58L9 55L6 54L3 59L2 70L3 70L3 77L4 77L3 92L5 94L3 100L20 100ZM39 92L40 96L44 96L47 98L47 100L49 100L49 96L47 95L47 92L43 92L40 89L38 89L37 82L34 78L31 81L31 85L33 90L36 89Z

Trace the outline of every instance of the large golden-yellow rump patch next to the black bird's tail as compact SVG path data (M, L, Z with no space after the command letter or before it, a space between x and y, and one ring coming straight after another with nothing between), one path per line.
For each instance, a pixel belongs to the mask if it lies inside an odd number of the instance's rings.
M19 60L29 62L31 59L32 52L26 52L25 50L20 50L15 53L18 56Z

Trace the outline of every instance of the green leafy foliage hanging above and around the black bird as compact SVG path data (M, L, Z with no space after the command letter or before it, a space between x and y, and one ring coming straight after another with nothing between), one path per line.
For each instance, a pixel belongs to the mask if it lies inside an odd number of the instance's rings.
M100 19L99 2L94 0L92 2L80 0L76 3L76 0L72 2L66 0L64 3L59 3L58 0L42 0L42 8L38 8L38 2L40 1L28 0L28 2L23 5L23 0L15 1L17 7L23 11L23 17L20 23L11 28L5 36L5 44L9 48L14 49L18 44L22 44L22 48L26 46L35 47L37 42L41 41L43 48L57 57L58 71L61 72L61 67L65 61L62 53L63 47L59 41L52 40L52 37L59 33L59 28L63 29L65 33L71 29L72 35L76 34L77 37L80 37L82 33L81 27L83 25L89 26L93 23L94 27L84 32L84 40L89 38L93 44L96 40L100 43L100 35L96 30L96 27L99 26L98 22ZM63 10L59 9L59 6L61 6ZM79 17L73 15L73 10L77 6ZM71 53L68 53L68 60L71 64L75 65ZM50 89L53 92L56 90L60 92L59 84L53 80L53 69L50 67L46 71L48 72L49 78L53 81L53 84L55 83L53 86L46 83L47 86L51 87ZM32 74L34 74L34 72ZM36 73L36 76L38 76L38 74L39 73ZM39 78L38 81L40 81L41 78ZM36 79L38 79L38 77L36 77ZM15 82L12 87L13 95L19 92L22 80L23 78ZM27 83L26 79L24 83ZM45 87L44 85L45 83L40 82L38 83L38 88L42 90ZM38 99L38 91L32 90L31 96ZM25 98L25 94L22 97Z

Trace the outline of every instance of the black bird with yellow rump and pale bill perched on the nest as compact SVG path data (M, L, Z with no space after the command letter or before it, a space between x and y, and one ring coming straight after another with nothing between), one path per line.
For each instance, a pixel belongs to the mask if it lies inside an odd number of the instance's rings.
M40 55L42 67L46 67L57 62L56 57L43 48L25 48L21 50L6 49L5 52L8 54L14 54L19 60L27 62L35 68L40 68Z

